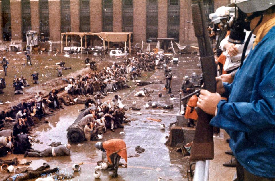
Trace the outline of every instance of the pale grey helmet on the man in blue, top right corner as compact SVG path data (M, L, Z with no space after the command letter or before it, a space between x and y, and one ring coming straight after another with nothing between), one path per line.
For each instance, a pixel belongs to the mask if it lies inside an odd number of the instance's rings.
M275 0L231 0L229 6L239 7L244 13L264 11L275 5Z

